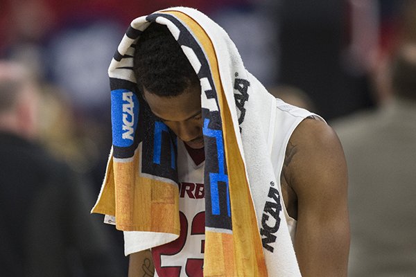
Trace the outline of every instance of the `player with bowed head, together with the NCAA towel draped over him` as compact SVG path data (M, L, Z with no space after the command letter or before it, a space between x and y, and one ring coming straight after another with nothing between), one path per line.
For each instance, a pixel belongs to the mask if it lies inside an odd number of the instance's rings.
M225 31L170 8L109 69L113 148L92 212L129 276L347 276L347 170L322 118L275 99Z

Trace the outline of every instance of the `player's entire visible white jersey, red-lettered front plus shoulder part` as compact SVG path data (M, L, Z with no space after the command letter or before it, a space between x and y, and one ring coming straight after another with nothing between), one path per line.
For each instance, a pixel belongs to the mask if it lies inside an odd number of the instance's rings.
M313 117L311 114L277 99L275 130L270 147L272 166L275 169L277 182L280 187L280 173L283 166L286 145L291 134L304 118ZM177 240L152 249L155 264L155 276L158 277L191 277L202 276L205 243L205 199L204 199L204 165L196 165L190 157L182 141L177 143L177 167L180 182L180 225L181 233ZM283 206L288 223L289 233L294 242L296 220L290 217ZM259 217L261 215L257 215ZM132 247L134 240L125 240L125 247Z

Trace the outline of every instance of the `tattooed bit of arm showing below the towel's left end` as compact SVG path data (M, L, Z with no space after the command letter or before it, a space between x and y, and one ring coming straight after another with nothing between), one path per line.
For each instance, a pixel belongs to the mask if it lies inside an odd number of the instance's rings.
M130 254L128 277L153 277L154 275L155 267L150 250Z

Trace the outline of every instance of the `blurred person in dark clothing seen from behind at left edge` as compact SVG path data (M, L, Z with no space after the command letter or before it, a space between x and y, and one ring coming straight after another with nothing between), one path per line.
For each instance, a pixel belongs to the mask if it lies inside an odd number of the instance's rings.
M80 175L35 143L37 84L0 62L1 276L119 276Z

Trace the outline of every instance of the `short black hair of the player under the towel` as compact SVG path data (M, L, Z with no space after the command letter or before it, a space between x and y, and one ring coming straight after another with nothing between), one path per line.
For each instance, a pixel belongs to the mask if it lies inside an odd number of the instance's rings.
M188 87L200 85L171 32L157 23L150 24L139 37L133 69L139 85L157 96L178 96Z

